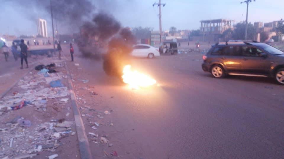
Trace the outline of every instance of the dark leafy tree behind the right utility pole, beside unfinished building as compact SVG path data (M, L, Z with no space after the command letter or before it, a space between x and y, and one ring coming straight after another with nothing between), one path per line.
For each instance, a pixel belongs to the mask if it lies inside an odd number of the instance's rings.
M244 40L245 39L245 30L246 30L246 22L240 22L235 25L235 30L232 34L234 40ZM255 35L256 29L254 28L253 24L248 24L248 40L253 40Z

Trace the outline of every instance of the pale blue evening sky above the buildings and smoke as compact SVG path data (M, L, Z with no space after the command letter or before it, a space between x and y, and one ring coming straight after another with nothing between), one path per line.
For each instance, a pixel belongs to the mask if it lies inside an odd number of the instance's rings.
M30 1L0 0L0 35L36 35L38 18L46 19L48 34L52 34L50 14L42 7L29 5ZM159 30L159 7L152 6L155 0L90 1L96 6L94 10L112 14L124 27L141 26ZM199 29L200 21L209 19L244 21L246 4L240 2L241 0L162 0L166 4L162 7L162 29L169 30L172 26L178 30ZM26 3L25 7L21 3ZM249 21L254 23L284 19L283 6L284 0L256 0L249 4ZM64 21L57 22L57 25L59 33L78 32L70 31L70 26L64 24Z

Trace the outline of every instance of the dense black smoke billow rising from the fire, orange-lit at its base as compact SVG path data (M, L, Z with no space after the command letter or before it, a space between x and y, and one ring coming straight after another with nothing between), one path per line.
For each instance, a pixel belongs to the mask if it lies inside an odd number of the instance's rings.
M108 14L96 14L92 22L80 28L78 46L84 56L90 57L99 52L99 44L106 45L103 69L107 75L121 76L122 69L130 64L130 53L136 39L129 28Z

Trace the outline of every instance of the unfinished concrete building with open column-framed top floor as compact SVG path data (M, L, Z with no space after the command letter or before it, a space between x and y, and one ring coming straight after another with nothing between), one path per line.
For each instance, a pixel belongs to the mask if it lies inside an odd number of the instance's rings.
M193 40L217 42L220 35L227 29L233 29L235 25L234 20L228 19L212 19L200 21L200 32L202 36L196 37Z

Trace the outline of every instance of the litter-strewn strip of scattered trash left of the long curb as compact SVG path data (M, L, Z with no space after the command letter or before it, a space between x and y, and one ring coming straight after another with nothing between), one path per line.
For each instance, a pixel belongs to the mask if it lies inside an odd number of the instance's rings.
M62 83L62 79L67 76L51 68L63 66L53 63L35 67L38 72L29 72L13 89L17 91L8 93L0 100L0 158L30 158L43 150L54 152L62 145L62 138L75 135L71 130L74 121L66 121L64 118L44 121L44 118L40 120L36 117L42 116L48 109L56 110L56 104L64 105L68 102L68 88ZM51 106L47 106L49 100L52 100ZM7 121L11 112L20 109L21 116ZM25 112L25 109L34 110L32 113L37 120L32 120L33 117L27 115L30 112ZM42 115L36 114L37 112ZM48 157L57 156L54 154Z

